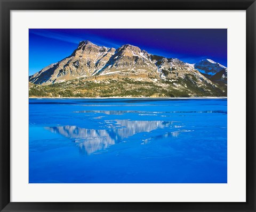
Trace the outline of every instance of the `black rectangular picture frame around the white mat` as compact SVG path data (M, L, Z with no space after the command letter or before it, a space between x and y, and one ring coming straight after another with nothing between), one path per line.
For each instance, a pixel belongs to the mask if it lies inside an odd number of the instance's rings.
M256 211L254 0L0 0L1 211ZM246 202L10 202L11 10L246 10Z

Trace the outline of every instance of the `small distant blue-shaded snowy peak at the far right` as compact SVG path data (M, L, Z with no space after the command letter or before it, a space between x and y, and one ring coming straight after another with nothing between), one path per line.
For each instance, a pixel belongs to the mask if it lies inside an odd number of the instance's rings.
M214 74L227 70L227 67L214 62L210 59L205 59L194 64L195 69L205 75L205 77L212 77Z

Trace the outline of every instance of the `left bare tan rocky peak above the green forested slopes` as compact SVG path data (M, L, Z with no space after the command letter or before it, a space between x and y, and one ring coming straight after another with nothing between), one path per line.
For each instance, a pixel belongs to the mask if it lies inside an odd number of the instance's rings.
M88 40L81 41L70 56L30 76L29 82L47 85L90 77L106 65L115 50L97 46Z

